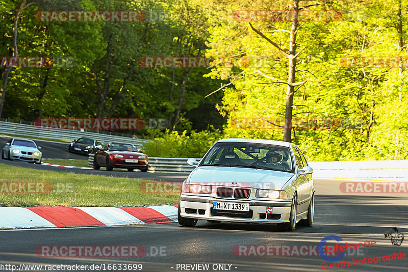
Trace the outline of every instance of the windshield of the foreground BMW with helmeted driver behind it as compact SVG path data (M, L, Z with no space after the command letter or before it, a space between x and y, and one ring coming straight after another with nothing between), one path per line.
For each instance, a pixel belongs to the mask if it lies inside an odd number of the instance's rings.
M199 166L245 167L294 173L288 147L223 142L215 144Z

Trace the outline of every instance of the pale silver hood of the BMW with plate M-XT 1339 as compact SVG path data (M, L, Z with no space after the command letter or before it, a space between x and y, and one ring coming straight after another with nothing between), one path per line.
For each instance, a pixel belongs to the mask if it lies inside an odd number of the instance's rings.
M190 183L249 188L281 189L293 173L238 167L200 166L191 172ZM236 182L236 184L234 184ZM211 184L210 184L211 185Z

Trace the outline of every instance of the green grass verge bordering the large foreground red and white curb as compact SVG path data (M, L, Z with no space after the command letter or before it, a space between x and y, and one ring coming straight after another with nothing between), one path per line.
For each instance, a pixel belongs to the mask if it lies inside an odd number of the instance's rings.
M40 182L41 184L49 182L53 184L53 191L50 193L4 193L7 192L5 186L10 188L10 182ZM166 205L178 202L178 193L141 192L139 185L142 182L155 181L59 173L0 164L0 206L126 207ZM47 188L48 185L45 185L44 188Z

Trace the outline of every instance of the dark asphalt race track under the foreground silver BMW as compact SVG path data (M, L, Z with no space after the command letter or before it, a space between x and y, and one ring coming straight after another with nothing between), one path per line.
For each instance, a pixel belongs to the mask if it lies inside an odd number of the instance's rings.
M137 173L135 173L137 174ZM149 173L147 173L149 174ZM164 177L165 174L161 174ZM105 265L142 264L141 271L182 271L181 264L209 264L206 271L318 271L326 262L316 252L314 256L240 256L234 251L239 245L316 246L327 235L337 235L347 243L376 241L375 247L360 252L351 250L342 260L374 258L394 253L408 254L408 241L393 246L385 233L397 227L408 235L408 198L406 194L352 194L340 192L343 181L316 179L315 222L312 227L297 227L295 232L280 232L273 224L208 223L199 221L194 228L177 223L135 225L123 227L91 227L0 231L0 263L31 265ZM332 241L333 242L333 241ZM39 246L143 246L141 257L42 257L36 255ZM162 253L160 252L162 247ZM299 248L298 247L298 248ZM283 247L281 248L283 249ZM317 251L317 250L316 250ZM242 251L241 255L251 252ZM282 251L281 251L282 252ZM318 252L318 251L317 251ZM39 253L37 251L39 255ZM235 254L234 254L235 253ZM256 253L256 252L255 252ZM304 252L303 253L307 253ZM126 254L126 253L125 253ZM257 253L256 253L257 254ZM260 250L260 254L265 251ZM152 256L153 255L153 256ZM237 256L238 255L238 256ZM309 254L308 254L309 255ZM342 261L341 260L341 261ZM378 259L377 259L378 260ZM327 262L326 262L327 263ZM407 259L381 260L374 264L359 264L336 271L406 271ZM177 266L179 264L179 266ZM214 264L226 269L213 269ZM347 263L346 263L347 264ZM178 267L178 269L177 269ZM187 268L187 266L184 266ZM201 266L200 266L201 267ZM188 266L191 269L191 266ZM2 269L0 269L2 270ZM93 269L97 270L97 269ZM104 270L101 267L101 270ZM187 269L183 269L187 271ZM2 270L4 271L4 270ZM192 271L192 270L190 270ZM203 270L194 270L203 271Z

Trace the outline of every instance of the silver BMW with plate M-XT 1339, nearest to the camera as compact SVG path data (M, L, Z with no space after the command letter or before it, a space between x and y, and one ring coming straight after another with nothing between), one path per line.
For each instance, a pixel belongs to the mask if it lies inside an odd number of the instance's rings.
M197 161L183 182L178 219L277 224L294 231L312 226L313 169L300 149L281 141L223 139Z

